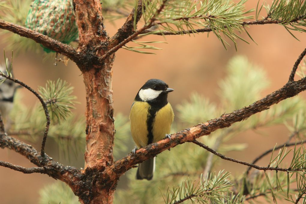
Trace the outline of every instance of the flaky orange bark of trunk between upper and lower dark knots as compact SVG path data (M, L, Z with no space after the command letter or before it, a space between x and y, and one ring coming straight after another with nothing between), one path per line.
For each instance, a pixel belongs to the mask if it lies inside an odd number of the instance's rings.
M86 89L85 168L113 163L112 61L83 73Z

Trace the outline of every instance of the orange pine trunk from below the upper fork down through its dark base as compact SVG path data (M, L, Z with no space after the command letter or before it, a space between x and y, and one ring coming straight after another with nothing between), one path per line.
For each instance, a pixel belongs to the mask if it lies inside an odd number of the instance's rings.
M117 179L111 179L105 167L113 163L114 119L112 65L114 55L102 69L83 72L86 90L86 183L79 194L81 203L111 204Z

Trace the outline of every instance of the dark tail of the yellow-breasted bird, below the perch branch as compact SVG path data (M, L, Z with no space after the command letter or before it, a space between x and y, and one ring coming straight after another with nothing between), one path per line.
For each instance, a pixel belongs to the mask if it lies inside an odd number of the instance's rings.
M155 170L155 157L148 159L141 164L137 169L136 179L142 180L147 179L151 180L153 178L153 172Z

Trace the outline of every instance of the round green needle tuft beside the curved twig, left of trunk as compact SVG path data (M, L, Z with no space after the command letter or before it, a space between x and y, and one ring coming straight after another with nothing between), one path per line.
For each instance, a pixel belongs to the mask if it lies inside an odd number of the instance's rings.
M66 81L61 79L56 82L48 80L46 87L38 87L38 91L47 104L53 123L60 124L61 119L71 114L76 96L70 95L73 92L73 87L67 85Z

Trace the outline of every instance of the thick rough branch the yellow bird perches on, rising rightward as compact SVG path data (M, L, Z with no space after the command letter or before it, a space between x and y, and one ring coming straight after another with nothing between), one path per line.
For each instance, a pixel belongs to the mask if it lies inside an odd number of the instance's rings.
M149 158L155 157L157 154L171 147L175 147L185 142L193 142L196 138L203 135L209 135L221 128L230 127L233 123L246 120L248 117L267 110L273 104L276 104L286 98L293 97L300 92L306 90L306 77L298 81L287 82L282 88L274 91L266 97L252 103L249 106L235 110L232 113L222 114L221 117L201 123L177 132L171 135L170 139L162 139L157 143L149 144L136 151L136 154L128 154L124 158L116 161L113 165L106 167L106 173L111 175L112 179L118 178L134 165L139 164Z

